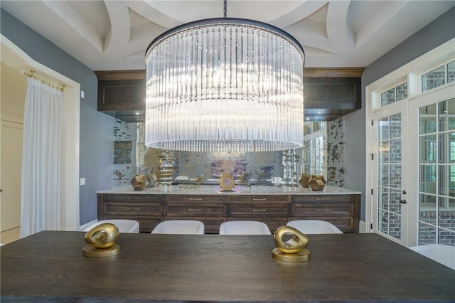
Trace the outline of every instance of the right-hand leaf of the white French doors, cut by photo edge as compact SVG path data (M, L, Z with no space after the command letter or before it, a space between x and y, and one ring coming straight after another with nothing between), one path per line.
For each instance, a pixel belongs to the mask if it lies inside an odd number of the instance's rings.
M410 174L416 176L411 245L455 245L455 85L410 105Z

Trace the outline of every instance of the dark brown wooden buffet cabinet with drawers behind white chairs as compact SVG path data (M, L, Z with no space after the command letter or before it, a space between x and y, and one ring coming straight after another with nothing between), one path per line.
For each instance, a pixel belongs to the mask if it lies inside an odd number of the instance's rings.
M229 220L259 220L272 233L289 220L327 220L344 233L358 233L360 194L180 195L98 193L98 219L132 219L141 233L163 220L200 220L205 233L218 233Z

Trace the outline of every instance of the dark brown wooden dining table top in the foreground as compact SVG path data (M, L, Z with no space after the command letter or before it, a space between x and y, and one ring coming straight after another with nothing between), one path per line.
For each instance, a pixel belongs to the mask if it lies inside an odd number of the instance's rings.
M85 257L82 232L1 247L1 302L453 301L455 271L376 234L309 235L311 260L272 258L272 235L122 233Z

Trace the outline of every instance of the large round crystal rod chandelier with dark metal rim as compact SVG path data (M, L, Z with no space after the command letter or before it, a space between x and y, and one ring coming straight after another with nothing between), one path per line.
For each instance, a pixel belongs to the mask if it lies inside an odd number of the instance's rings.
M302 147L304 58L289 33L249 19L210 18L166 31L145 55L146 146Z

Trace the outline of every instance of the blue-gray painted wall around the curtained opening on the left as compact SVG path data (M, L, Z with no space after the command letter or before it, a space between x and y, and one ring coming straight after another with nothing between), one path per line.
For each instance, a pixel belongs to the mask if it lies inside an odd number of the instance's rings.
M0 11L0 31L33 60L80 83L80 224L97 218L96 191L112 187L114 118L97 112L97 78L86 65L33 31L7 11Z

